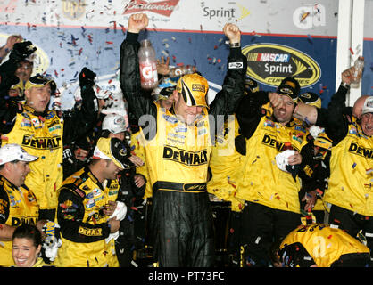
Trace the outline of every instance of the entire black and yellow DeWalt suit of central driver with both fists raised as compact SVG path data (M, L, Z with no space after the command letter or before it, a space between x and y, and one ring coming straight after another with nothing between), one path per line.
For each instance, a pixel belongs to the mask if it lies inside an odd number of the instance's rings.
M210 109L203 109L195 126L184 126L174 110L163 110L142 92L137 37L138 34L127 33L120 47L120 84L128 111L137 120L150 115L161 124L156 124L155 132L154 128L151 130L153 136L145 134L146 163L153 188L151 224L156 258L161 266L211 266L214 233L206 183L216 126L209 118L216 121L218 115L235 110L237 100L244 94L246 59L239 47L230 48L228 62L239 64L228 68L222 90ZM187 145L188 135L205 144Z

